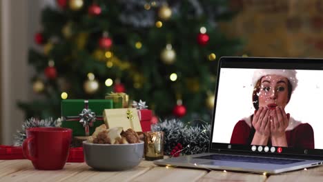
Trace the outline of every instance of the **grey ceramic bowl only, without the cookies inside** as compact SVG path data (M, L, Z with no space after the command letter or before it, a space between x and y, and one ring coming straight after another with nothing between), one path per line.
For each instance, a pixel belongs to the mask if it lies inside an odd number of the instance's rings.
M144 155L144 141L129 144L83 142L86 164L95 170L128 170L137 166Z

